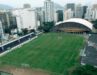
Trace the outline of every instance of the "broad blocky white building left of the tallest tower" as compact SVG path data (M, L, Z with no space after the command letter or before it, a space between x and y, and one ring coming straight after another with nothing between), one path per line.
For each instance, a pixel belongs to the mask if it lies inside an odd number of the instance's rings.
M22 29L37 29L37 15L36 11L32 8L28 9L15 9L12 11L13 15L16 17L17 20L17 27L18 31L21 32Z

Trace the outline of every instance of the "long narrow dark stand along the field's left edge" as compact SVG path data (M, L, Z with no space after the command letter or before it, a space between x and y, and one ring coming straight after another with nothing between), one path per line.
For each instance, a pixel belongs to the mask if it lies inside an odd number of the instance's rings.
M36 36L36 34L30 33L28 35L20 37L19 39L16 39L16 40L13 40L11 42L8 42L8 43L0 46L0 53L5 52L5 51L7 51L7 50L9 50L9 49L21 44L21 43L24 43L25 41L27 41L27 40L35 37L35 36Z

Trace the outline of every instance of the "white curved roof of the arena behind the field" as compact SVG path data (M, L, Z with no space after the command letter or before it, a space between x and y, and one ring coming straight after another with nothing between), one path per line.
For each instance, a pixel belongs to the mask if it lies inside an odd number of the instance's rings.
M66 21L62 21L62 22L56 23L56 25L59 25L61 23L66 23L66 22L76 22L76 23L80 23L80 24L88 27L91 30L93 29L93 24L92 23L90 23L87 20L80 19L80 18L72 18L72 19L69 19L69 20L66 20Z

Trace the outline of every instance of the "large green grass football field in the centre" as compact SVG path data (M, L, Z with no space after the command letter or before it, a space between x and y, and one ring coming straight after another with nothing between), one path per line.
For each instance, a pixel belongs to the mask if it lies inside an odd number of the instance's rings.
M50 72L66 74L67 70L80 64L79 53L84 38L78 35L48 33L0 58L2 65L21 66L29 64Z

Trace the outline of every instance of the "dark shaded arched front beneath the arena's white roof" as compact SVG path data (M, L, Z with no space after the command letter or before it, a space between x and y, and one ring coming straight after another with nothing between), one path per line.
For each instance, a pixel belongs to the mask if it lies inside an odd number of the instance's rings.
M70 30L69 32L91 32L89 28L86 26L75 23L75 22L67 22L67 23L61 23L59 25L56 25L53 27L52 31L54 32L68 32L68 29Z

